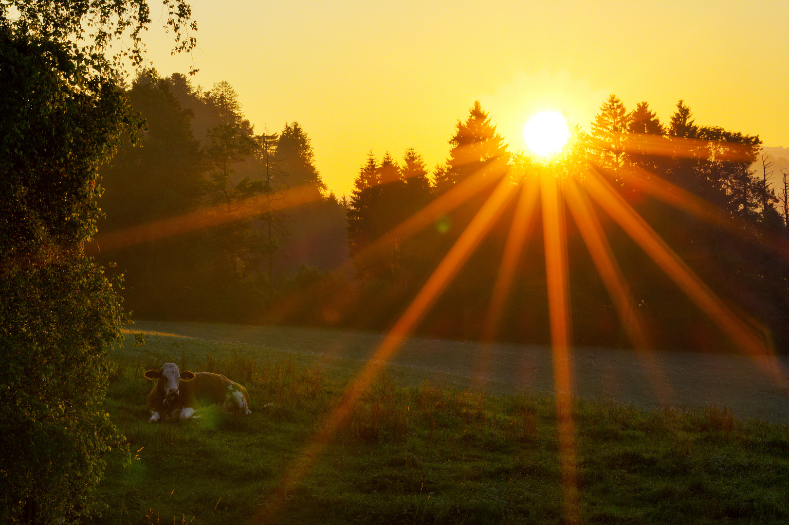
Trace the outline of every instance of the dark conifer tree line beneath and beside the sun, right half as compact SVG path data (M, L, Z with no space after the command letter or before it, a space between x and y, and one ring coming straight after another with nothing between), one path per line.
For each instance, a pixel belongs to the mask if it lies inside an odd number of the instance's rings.
M783 193L776 195L769 187L767 174L752 167L760 158L761 140L717 126L698 125L690 107L682 100L664 125L647 102L627 110L615 95L600 106L588 135L578 125L571 127L573 137L561 159L567 175L582 178L585 166L599 169L713 292L748 322L765 329L780 349L785 348L789 217L783 207L776 209L776 204L785 202L786 192L782 189ZM632 147L634 141L646 146ZM511 177L512 184L519 186L539 177L536 159L522 152L507 151L507 144L479 102L474 103L465 121L457 122L449 143L447 162L436 166L432 177L413 150L406 151L399 163L388 153L380 160L371 153L361 166L350 199L348 243L362 280L358 300L365 307L355 310L346 307L338 316L350 326L377 329L390 326L458 240L492 187L481 189L466 203L437 218L431 228L392 240L385 249L365 250L376 239L473 173L488 169L488 179ZM730 155L731 151L737 155ZM725 221L738 225L739 233L733 235L731 228L694 215L690 202L676 207L645 194L628 176L634 170L643 177L651 177L659 186L668 188L674 184L703 199ZM422 333L482 337L514 207L512 203L502 214L483 244L443 292L421 323ZM628 348L632 342L626 337L569 211L565 213L575 342ZM699 311L622 229L600 208L596 208L596 214L604 224L656 348L711 352L733 349L731 341L714 322ZM499 339L548 342L548 300L539 213L509 296Z

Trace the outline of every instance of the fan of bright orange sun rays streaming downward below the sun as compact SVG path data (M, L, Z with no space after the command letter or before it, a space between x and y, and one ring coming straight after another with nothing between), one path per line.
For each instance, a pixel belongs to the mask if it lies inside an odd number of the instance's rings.
M676 141L675 141L676 142ZM697 147L691 144L689 147ZM370 250L380 249L380 246L393 240L413 235L424 228L432 219L448 210L458 206L462 200L469 198L473 192L471 188L483 188L491 184L491 175L497 170L489 165L475 173L469 179L458 184L453 191L447 192L432 204L425 207L401 225L395 227L390 233L372 244ZM500 166L499 166L500 168ZM653 388L653 392L661 403L671 401L671 386L660 369L651 352L649 336L646 333L643 321L634 308L629 286L623 276L622 270L615 259L615 255L608 243L604 229L600 225L591 201L594 200L607 214L611 216L628 233L641 248L652 258L662 270L685 292L694 303L701 308L728 337L743 352L751 356L767 356L770 349L765 337L752 326L743 322L720 300L693 270L690 270L682 259L665 244L664 240L645 223L638 213L619 195L611 185L605 181L600 172L589 166L582 173L570 173L570 177L557 177L551 165L535 165L537 176L513 181L511 177L503 177L494 192L488 197L484 205L474 216L468 227L458 237L457 242L447 252L431 277L417 293L417 296L406 308L406 311L394 324L383 343L376 350L375 355L365 366L352 385L346 391L338 407L327 419L317 434L316 438L308 445L305 454L282 478L282 484L275 492L267 508L278 508L283 497L289 492L290 486L305 475L308 464L312 464L316 454L320 452L327 438L335 433L342 421L349 415L353 403L371 385L376 374L386 366L386 361L399 345L424 318L439 295L457 274L469 255L477 248L484 235L492 227L495 219L502 213L503 208L510 202L516 190L520 191L518 203L510 232L502 255L499 272L496 277L492 299L484 319L482 334L481 355L477 373L482 373L486 367L486 342L495 337L501 315L506 307L510 292L510 284L514 271L518 266L524 247L528 244L529 237L533 234L535 225L535 210L537 203L542 209L543 240L545 254L546 282L548 286L548 317L550 320L551 348L554 367L554 387L556 400L556 414L559 443L559 464L562 479L563 508L568 523L578 521L578 472L577 458L574 444L574 423L572 417L572 401L574 391L574 373L571 357L572 326L570 306L570 267L567 260L567 229L565 225L565 210L570 210L575 224L578 226L581 237L592 256L593 263L604 285L608 290L611 301L614 303L620 322L630 341L638 352L645 375ZM487 176L487 177L485 177ZM484 182L487 184L484 184ZM659 187L659 186L658 186ZM656 192L658 193L658 192ZM693 210L703 211L709 218L720 218L712 212L712 208L698 203L694 199L683 198L680 195L672 197L674 203L688 204ZM579 370L578 373L582 373ZM765 367L772 379L780 384L785 384L783 370L778 367Z

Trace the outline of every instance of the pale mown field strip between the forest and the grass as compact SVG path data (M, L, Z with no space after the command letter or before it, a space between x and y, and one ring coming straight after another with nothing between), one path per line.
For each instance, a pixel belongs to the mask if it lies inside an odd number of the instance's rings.
M200 322L138 321L131 330L172 333L208 341L262 345L281 352L320 356L325 363L352 369L365 362L383 335L351 330L293 326L248 326ZM492 392L552 390L548 347L492 344L481 358L474 341L412 337L390 359L390 369L408 382L429 378L459 388L484 387ZM789 422L789 392L781 389L746 356L696 352L654 352L670 392L661 399L651 388L638 356L629 350L575 348L574 377L582 397L611 398L645 408L664 404L703 408L728 407L735 415ZM789 370L789 357L760 358L768 367Z

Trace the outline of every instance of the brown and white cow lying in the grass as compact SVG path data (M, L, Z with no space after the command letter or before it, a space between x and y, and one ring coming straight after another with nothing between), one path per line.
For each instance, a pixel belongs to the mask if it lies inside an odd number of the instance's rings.
M237 382L222 374L178 370L175 363L165 363L159 370L148 370L145 377L155 381L148 394L151 423L200 417L200 408L219 405L224 411L249 414L249 394Z

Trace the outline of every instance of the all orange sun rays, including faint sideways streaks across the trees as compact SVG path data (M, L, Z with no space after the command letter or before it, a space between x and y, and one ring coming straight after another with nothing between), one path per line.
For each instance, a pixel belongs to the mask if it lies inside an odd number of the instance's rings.
M626 151L644 155L672 155L675 157L692 157L700 148L710 147L709 141L640 135L631 136L627 144ZM587 144L587 146L595 147L594 144ZM738 147L731 144L720 143L714 147L717 158L742 160L742 155L744 155ZM420 322L436 303L436 300L447 289L458 271L477 250L481 241L503 215L503 211L513 201L515 201L513 220L507 233L491 299L482 323L481 348L479 359L477 359L476 373L484 376L484 370L488 366L487 345L495 340L498 333L503 315L507 311L507 303L510 300L511 287L519 261L529 246L529 240L536 233L537 224L541 218L558 420L559 464L563 488L563 508L568 522L574 523L579 516L577 458L571 408L574 374L583 374L583 370L574 370L572 359L571 270L567 258L566 225L568 216L572 218L578 229L596 272L600 275L604 288L608 292L624 333L630 339L634 350L638 352L645 377L653 389L656 400L659 400L661 404L671 403L671 385L664 376L660 363L653 355L645 322L634 304L630 285L628 285L611 248L603 223L598 216L598 209L619 225L619 228L630 236L646 255L649 255L656 266L742 352L757 360L763 356L772 355L764 330L750 320L736 315L724 303L724 300L712 292L712 289L694 273L694 270L691 270L690 266L611 186L604 169L596 167L592 163L584 165L583 162L567 162L563 169L560 169L562 168L561 162L563 162L561 159L555 159L544 164L540 162L527 163L524 169L512 169L511 173L507 173L510 164L500 158L493 159L477 173L473 173L464 181L456 184L432 203L381 236L380 239L369 244L357 255L362 258L373 257L379 251L390 247L391 244L416 235L428 225L433 224L436 218L466 203L474 195L480 195L482 192L489 193L488 198L477 210L466 229L458 236L454 245L438 263L436 269L433 270L405 311L394 322L372 359L354 378L342 399L320 426L320 430L309 441L304 452L286 469L278 489L272 493L265 505L265 512L276 512L286 501L294 483L306 475L309 467L316 461L327 442L349 417L359 397L365 393L380 370L386 366L387 359L390 359L398 351L402 342L414 330L417 330ZM575 166L582 166L582 168L576 169ZM697 218L724 226L731 232L746 234L746 229L733 222L731 218L712 204L644 169L626 166L619 171L619 177L624 177L628 184L632 184L634 188L644 194L651 195L671 204L671 206L682 208ZM489 189L494 185L495 188ZM288 193L288 201L291 205L307 202L312 198L314 198L314 193L306 190L301 192L300 188L294 188ZM285 202L284 199L281 201L282 206L285 205ZM97 236L96 248L98 249L99 246L103 246L105 250L124 248L165 236L221 225L238 218L252 217L255 214L260 214L262 205L262 201L251 199L232 211L216 207L117 233ZM765 360L763 369L772 381L779 385L787 385L786 374L774 361Z

